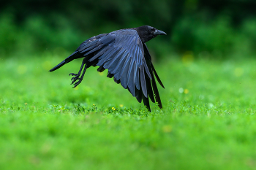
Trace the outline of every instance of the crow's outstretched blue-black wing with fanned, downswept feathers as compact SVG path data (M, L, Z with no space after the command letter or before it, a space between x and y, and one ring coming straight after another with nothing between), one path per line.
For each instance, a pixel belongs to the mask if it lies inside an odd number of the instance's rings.
M91 39L81 44L78 51L87 58L86 63L95 63L94 65L99 66L99 72L108 69L108 77L113 77L115 82L121 83L132 96L136 96L139 102L143 100L150 109L148 96L154 102L154 94L159 97L159 93L154 81L154 67L151 66L150 60L146 61L146 48L143 46L137 31L124 29L104 34L98 39ZM90 55L91 53L94 55ZM157 99L157 102L162 108L161 101Z

